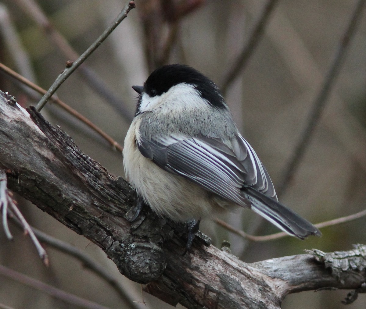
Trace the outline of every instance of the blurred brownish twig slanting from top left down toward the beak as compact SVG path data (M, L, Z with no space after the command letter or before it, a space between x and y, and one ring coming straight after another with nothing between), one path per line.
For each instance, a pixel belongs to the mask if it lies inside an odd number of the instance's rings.
M47 18L42 8L33 0L14 0L18 6L22 8L27 15L31 16L37 25L44 31L49 39L57 46L57 48L67 57L68 60L75 60L79 58L78 53L68 43L66 38L52 25ZM112 94L107 85L101 78L86 64L83 64L79 71L86 82L89 83L91 89L96 91L101 97L109 102L126 120L131 121L130 112L124 108L124 103L120 98Z

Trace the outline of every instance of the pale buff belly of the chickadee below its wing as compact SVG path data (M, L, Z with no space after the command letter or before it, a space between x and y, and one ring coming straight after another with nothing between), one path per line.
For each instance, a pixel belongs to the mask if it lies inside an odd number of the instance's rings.
M231 201L206 191L185 178L171 174L143 157L135 143L135 126L130 127L123 150L128 181L159 215L176 221L212 218L217 212L235 207Z

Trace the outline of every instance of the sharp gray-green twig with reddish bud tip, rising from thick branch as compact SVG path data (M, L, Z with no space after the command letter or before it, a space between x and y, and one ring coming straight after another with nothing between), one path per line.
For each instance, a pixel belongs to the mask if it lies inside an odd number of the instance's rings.
M61 86L61 84L75 71L76 68L79 67L86 59L90 56L91 53L94 52L98 48L100 44L108 37L109 34L122 22L123 19L127 17L127 14L130 10L135 7L135 1L129 1L123 8L123 10L118 14L118 16L113 20L113 22L108 26L108 28L98 37L98 39L89 46L89 48L77 59L75 60L69 67L66 67L64 71L56 78L55 82L48 89L47 93L41 98L40 102L37 104L37 109L40 111L49 98L55 93L57 88Z

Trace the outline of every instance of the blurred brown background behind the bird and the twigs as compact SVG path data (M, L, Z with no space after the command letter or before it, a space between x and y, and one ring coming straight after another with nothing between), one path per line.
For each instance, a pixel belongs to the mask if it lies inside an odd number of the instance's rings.
M0 62L48 89L68 57L37 26L26 0L0 1ZM277 1L264 35L245 68L225 91L243 136L256 150L272 180L279 185L294 147L307 125L308 115L358 1ZM81 54L115 18L126 1L38 0L71 46ZM142 84L149 73L164 63L185 63L223 85L266 1L136 1L132 10L86 65L117 98L117 108L90 86L78 71L57 91L64 102L88 117L123 144L135 109L133 84ZM40 19L38 19L40 20ZM71 59L75 60L75 59ZM0 75L0 89L15 95L24 106L40 98L7 76ZM339 76L306 149L280 200L313 223L335 219L365 209L365 12L356 27ZM127 112L122 115L120 108ZM123 175L122 154L112 151L83 125L56 105L42 110L60 125L76 144L111 173ZM141 286L119 274L115 265L94 244L68 230L37 207L19 199L28 222L77 246L107 268L136 301L137 308L171 308ZM260 224L250 211L225 219L244 231L265 235L277 232ZM102 279L74 258L47 248L50 267L38 259L29 238L11 225L13 241L0 229L0 263L108 308L130 308ZM365 244L365 217L322 229L322 238L306 241L287 237L271 242L247 242L213 223L203 226L220 246L226 239L232 252L253 262L303 253L317 248L325 252L349 250ZM78 308L0 276L1 304L13 308ZM283 308L344 308L348 291L314 291L288 295ZM146 302L146 306L142 304ZM365 308L365 295L350 309Z

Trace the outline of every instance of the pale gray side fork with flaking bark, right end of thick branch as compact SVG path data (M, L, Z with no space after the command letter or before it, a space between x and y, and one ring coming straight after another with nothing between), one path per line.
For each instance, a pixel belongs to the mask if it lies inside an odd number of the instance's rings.
M277 286L280 295L321 287L348 289L347 286L356 281L362 284L365 280L365 250L365 245L354 245L353 250L331 253L313 249L307 250L311 254L279 257L251 265L271 278L282 280L282 284ZM279 280L275 282L278 284Z

